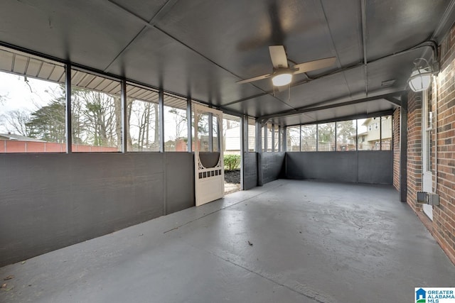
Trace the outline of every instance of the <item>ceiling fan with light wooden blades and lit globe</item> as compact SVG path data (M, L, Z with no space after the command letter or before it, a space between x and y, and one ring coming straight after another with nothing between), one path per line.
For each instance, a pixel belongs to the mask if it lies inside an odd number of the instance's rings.
M314 60L296 64L293 67L289 67L287 64L286 51L283 45L272 45L269 46L270 59L272 59L273 72L262 76L252 77L250 79L244 79L235 83L243 84L254 82L262 79L272 77L272 83L275 87L282 87L291 83L292 75L301 74L303 72L310 72L311 70L319 70L324 67L333 65L336 61L336 57L328 57L325 59Z

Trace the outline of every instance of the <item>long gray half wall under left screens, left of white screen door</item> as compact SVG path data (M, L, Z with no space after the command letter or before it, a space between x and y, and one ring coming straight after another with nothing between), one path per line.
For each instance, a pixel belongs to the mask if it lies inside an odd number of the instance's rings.
M0 266L194 206L191 153L0 155Z

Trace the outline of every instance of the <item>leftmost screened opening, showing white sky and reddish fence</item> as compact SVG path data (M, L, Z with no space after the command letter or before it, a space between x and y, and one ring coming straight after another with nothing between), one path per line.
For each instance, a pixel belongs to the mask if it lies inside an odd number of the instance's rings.
M65 153L65 67L0 48L0 153Z

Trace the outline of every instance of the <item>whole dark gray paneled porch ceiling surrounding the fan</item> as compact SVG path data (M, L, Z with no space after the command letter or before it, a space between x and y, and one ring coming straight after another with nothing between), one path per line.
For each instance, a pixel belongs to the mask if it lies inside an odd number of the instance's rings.
M375 60L444 35L441 28L453 23L454 7L454 0L7 0L0 10L0 41L231 111L264 116L403 89L412 60L429 52L422 48ZM336 56L336 66L309 72L309 77L349 69L293 87L289 104L286 92L257 97L272 91L269 80L242 85L235 81L272 72L269 45L284 45L291 65ZM350 68L363 63L364 50L368 67ZM23 54L0 54L0 69L64 81L61 65ZM97 77L73 75L73 84L119 93L118 82ZM304 79L306 75L296 75L294 83ZM392 86L382 85L391 79ZM147 100L156 96L146 91L134 94ZM279 121L374 109L375 103L368 104Z

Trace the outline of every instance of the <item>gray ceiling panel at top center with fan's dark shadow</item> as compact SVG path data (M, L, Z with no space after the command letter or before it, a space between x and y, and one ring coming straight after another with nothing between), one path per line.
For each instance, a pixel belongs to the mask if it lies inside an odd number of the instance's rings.
M315 1L178 1L156 26L242 79L272 72L269 45L298 63L333 56Z

